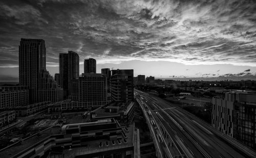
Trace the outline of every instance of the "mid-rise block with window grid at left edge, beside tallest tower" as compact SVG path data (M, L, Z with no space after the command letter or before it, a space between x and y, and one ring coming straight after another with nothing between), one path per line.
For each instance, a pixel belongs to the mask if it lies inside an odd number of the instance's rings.
M29 104L29 90L27 86L0 87L0 108L26 106Z

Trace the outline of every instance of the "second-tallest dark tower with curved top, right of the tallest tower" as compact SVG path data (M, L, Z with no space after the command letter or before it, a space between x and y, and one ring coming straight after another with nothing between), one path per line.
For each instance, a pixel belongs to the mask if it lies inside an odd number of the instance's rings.
M64 97L71 93L71 81L79 77L79 56L74 51L68 54L59 54L60 86L63 88Z

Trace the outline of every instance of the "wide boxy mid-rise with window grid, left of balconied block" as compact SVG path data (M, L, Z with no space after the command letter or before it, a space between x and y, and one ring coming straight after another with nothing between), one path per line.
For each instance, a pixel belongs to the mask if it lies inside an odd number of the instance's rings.
M106 75L100 73L83 73L72 80L70 99L83 102L84 105L97 107L106 104Z

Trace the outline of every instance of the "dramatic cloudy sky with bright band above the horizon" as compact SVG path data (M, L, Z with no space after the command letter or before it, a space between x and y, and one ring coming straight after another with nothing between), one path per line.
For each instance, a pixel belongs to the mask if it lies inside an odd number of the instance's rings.
M20 38L46 41L47 69L76 51L156 77L254 76L256 1L0 2L0 82L17 81Z

